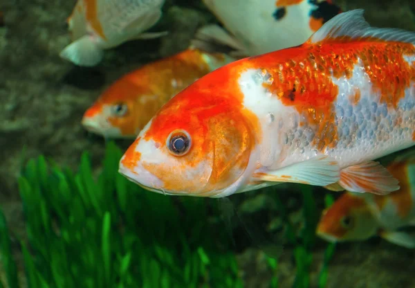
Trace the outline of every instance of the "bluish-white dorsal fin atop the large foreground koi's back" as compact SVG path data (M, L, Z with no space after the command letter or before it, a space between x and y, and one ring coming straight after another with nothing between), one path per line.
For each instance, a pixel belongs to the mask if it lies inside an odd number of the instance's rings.
M342 12L327 21L307 43L351 42L358 39L415 44L415 33L398 28L371 27L363 17L363 9Z

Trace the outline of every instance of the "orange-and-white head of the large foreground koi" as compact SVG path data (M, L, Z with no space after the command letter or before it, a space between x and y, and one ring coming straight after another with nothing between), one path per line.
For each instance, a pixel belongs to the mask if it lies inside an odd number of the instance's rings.
M255 146L250 122L225 90L212 93L201 80L151 118L122 156L121 174L165 195L224 197L241 186Z

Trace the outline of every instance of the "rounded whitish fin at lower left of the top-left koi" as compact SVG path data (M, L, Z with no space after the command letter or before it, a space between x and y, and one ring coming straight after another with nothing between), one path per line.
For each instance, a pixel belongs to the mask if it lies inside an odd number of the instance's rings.
M66 46L59 56L78 66L95 66L104 57L104 51L85 35Z

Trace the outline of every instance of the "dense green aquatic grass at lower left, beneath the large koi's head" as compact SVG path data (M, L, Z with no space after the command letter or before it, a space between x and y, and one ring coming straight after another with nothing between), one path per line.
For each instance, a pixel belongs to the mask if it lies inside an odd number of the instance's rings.
M76 173L44 156L28 161L18 183L29 287L242 287L228 235L205 224L205 199L176 205L142 190L118 174L121 154L109 143L98 177L87 153ZM2 214L0 231L8 286L17 288Z

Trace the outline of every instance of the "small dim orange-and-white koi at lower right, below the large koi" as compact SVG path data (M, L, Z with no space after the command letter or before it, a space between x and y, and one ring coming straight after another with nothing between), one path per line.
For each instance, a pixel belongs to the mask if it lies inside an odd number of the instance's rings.
M415 226L415 153L393 161L387 169L400 190L387 196L345 192L323 211L317 235L329 242L367 240L375 235L415 248L415 237L398 229Z

